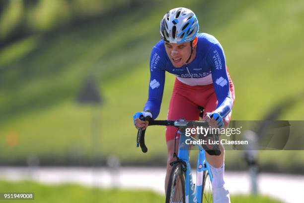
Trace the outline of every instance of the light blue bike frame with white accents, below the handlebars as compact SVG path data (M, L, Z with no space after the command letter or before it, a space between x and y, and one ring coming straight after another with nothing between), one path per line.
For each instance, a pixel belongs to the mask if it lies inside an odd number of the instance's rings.
M210 170L210 166L206 160L205 156L205 150L203 147L199 144L196 144L199 148L199 155L197 160L197 171L196 171L196 185L193 183L192 178L192 172L191 172L191 166L190 166L190 158L189 158L189 149L185 150L185 143L186 139L193 138L187 137L185 135L185 132L183 130L180 130L180 140L179 140L179 150L178 150L178 157L179 159L182 159L187 164L187 169L185 172L185 197L186 203L202 203L202 187L203 187L203 174L204 171L208 171L208 175L210 177L210 180L212 181L212 173ZM194 187L195 186L195 187Z

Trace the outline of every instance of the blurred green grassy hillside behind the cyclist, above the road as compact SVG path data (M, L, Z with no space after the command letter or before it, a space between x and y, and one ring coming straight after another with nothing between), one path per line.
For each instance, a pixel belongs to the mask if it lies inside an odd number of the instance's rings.
M303 0L0 0L0 165L33 156L41 165L80 166L97 156L103 165L115 155L122 165L164 166L164 128L149 129L143 154L132 116L148 97L159 21L180 6L224 47L233 120L263 119L277 105L284 109L277 119L304 120L303 101L284 105L304 93ZM102 105L76 101L91 77ZM167 74L158 119L166 118L173 82ZM228 170L245 169L242 152L226 154ZM262 171L303 173L304 153L260 151L259 163Z

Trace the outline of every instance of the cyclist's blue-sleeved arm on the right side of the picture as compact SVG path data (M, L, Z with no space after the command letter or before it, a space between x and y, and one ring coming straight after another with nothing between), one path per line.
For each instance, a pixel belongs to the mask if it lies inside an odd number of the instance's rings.
M207 62L211 66L213 85L219 101L215 111L224 118L231 111L233 102L230 95L225 54L220 44L215 44L209 49Z

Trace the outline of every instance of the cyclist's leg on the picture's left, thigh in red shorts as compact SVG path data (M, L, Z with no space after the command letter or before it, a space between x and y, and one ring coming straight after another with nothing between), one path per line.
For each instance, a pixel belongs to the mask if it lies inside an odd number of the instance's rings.
M186 120L198 120L199 109L197 105L191 102L188 97L185 96L185 89L183 89L182 84L179 81L175 82L171 101L169 104L167 119L186 119ZM187 93L187 96L191 97L191 93ZM178 153L178 143L179 143L179 133L176 127L168 126L166 127L166 143L167 143L167 172L165 179L165 190L167 190L167 185L169 181L169 176L171 172L170 163L175 161L172 155L174 153L174 142L175 134L177 134L175 152Z

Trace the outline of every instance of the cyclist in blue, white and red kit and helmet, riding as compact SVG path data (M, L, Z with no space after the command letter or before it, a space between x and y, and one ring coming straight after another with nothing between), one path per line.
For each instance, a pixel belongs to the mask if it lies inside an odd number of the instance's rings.
M165 72L176 76L167 119L198 120L198 106L205 108L204 118L210 126L228 125L234 103L234 87L228 74L223 48L212 35L198 33L199 23L193 11L187 8L169 10L160 21L160 37L152 48L150 58L149 98L144 111L134 115L136 128L148 127L141 115L155 119L159 113L165 82ZM174 139L176 128L166 128L167 171L165 190L170 176L170 162L175 158ZM179 134L176 135L178 148ZM207 161L214 176L212 182L214 203L229 203L229 192L224 181L225 150L221 155L207 151Z

